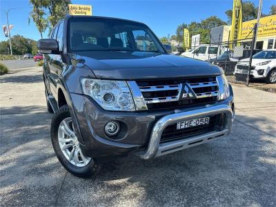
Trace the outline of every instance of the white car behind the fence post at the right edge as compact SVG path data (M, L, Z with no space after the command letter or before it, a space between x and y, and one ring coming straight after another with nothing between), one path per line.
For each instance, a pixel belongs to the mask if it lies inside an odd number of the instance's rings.
M239 60L234 75L246 75L248 65L248 58ZM276 49L263 50L253 55L250 79L265 79L267 83L276 83Z

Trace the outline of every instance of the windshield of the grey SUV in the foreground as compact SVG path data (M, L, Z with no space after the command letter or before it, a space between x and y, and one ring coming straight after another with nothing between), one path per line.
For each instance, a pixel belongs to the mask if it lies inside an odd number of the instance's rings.
M76 18L69 22L68 45L78 51L165 52L142 23L118 19Z

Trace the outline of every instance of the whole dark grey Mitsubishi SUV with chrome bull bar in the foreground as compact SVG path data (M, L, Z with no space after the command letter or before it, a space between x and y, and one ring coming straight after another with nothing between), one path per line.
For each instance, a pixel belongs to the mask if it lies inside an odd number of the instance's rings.
M152 159L229 134L233 90L217 66L166 52L144 23L67 16L38 48L52 146L88 177L115 155Z

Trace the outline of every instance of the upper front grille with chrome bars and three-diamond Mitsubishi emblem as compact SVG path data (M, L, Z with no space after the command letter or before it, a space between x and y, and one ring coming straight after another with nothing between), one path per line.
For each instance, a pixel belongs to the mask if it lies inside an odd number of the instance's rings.
M216 77L137 81L148 110L215 103Z

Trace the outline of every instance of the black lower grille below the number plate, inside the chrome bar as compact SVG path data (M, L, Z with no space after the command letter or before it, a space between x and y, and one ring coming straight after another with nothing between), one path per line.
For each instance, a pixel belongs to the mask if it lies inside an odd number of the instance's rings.
M215 115L210 117L208 125L193 126L179 130L177 130L177 124L172 124L167 126L162 132L160 143L187 139L189 137L203 135L214 130L221 130L221 123L224 122L222 119L224 119L224 115Z

